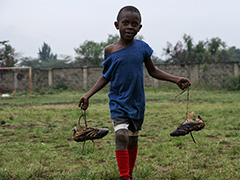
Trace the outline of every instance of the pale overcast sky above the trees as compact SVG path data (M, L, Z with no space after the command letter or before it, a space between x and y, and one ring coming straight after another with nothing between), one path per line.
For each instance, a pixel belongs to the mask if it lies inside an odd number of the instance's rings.
M240 0L0 0L0 41L24 57L37 57L43 42L75 57L85 40L118 34L113 23L125 5L141 11L139 34L160 58L167 42L175 45L184 34L195 43L219 37L240 48Z

